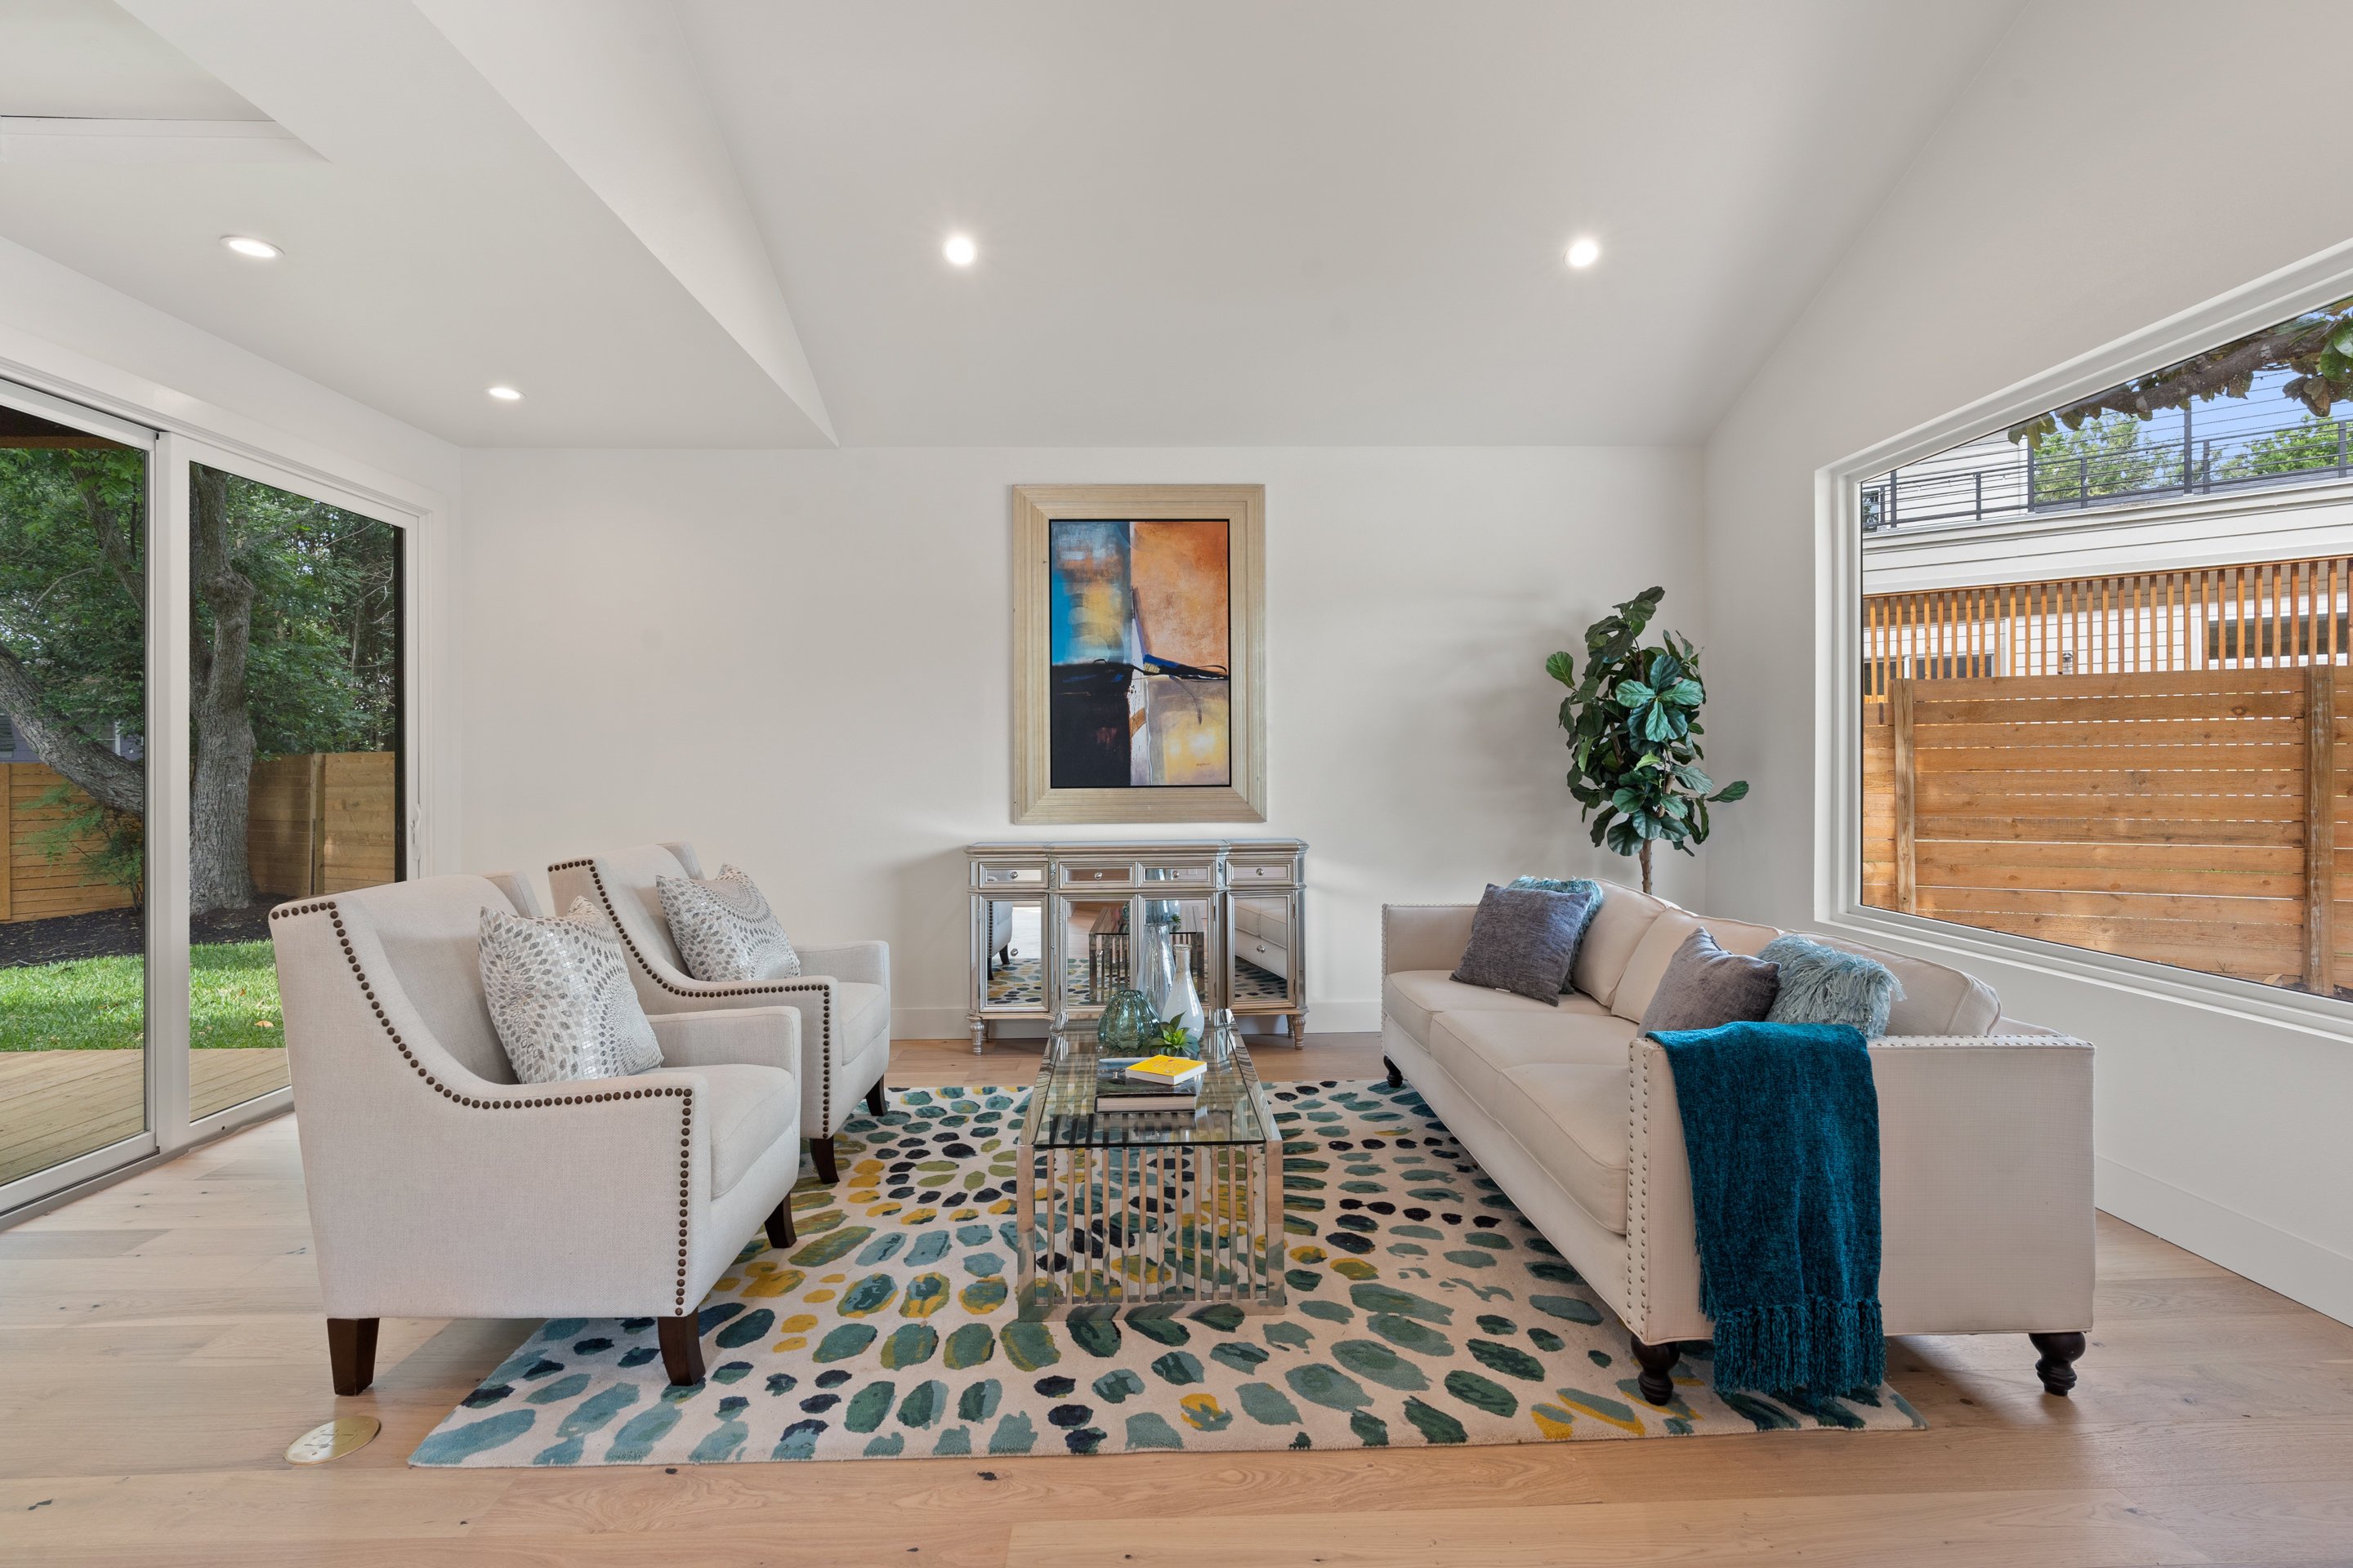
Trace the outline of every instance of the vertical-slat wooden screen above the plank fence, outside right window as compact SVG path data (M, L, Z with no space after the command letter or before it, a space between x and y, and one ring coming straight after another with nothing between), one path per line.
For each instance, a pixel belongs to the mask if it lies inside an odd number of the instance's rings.
M1864 696L1897 677L2129 675L2337 663L2353 557L1864 597Z

